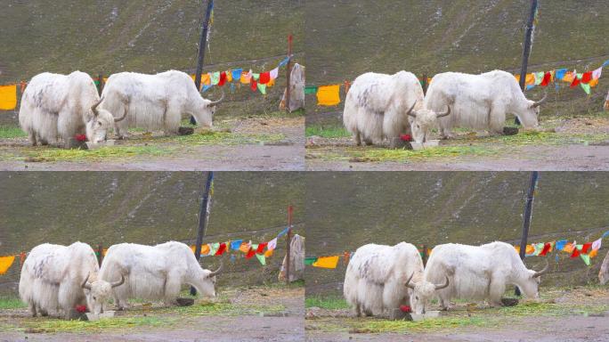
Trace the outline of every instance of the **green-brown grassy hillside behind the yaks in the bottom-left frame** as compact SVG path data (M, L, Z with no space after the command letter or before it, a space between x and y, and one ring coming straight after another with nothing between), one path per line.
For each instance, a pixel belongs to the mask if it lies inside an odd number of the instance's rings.
M0 256L27 251L40 243L81 240L106 248L119 242L156 244L196 238L203 173L50 172L4 173L0 177ZM298 173L215 173L215 193L207 242L230 239L271 240L304 218L304 179ZM298 229L302 233L303 226ZM276 277L284 243L263 269L257 260L223 261L234 273L223 283L260 283ZM217 265L209 258L206 265ZM12 289L19 262L0 283ZM243 276L243 272L248 277ZM276 279L276 278L275 278ZM4 287L4 285L2 286Z

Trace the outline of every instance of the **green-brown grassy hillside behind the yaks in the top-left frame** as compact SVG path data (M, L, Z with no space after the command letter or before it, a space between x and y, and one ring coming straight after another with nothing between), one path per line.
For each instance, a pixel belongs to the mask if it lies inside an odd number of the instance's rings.
M204 70L272 69L287 53L289 33L295 35L295 52L302 53L303 3L215 1ZM194 71L205 4L202 0L6 1L0 12L0 84L44 71L80 69L106 76L120 71ZM276 88L279 85L285 85L285 77ZM273 101L266 101L270 102L266 106L249 109L276 109L279 93L277 89L270 94ZM219 114L251 107L262 97L241 89L229 98L240 106L224 106Z

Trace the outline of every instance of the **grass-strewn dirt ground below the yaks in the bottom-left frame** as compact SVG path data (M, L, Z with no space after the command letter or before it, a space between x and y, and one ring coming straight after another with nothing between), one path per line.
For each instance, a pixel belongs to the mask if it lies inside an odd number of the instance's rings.
M118 317L150 323L111 326L120 319L115 318L104 328L80 322L83 326L67 329L56 318L31 318L26 309L3 310L0 341L303 341L304 295L302 287L232 290L223 295L228 297L224 308L211 312L197 311L202 299L183 312L136 304Z

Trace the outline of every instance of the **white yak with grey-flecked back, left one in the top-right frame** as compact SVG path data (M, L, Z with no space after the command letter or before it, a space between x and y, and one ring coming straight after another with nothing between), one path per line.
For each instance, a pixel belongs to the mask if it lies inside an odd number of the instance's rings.
M416 142L425 142L429 120L442 118L450 110L432 112L423 108L423 88L418 78L407 71L394 75L365 73L353 81L345 99L343 123L353 141L379 145L410 133ZM433 121L432 121L433 124Z

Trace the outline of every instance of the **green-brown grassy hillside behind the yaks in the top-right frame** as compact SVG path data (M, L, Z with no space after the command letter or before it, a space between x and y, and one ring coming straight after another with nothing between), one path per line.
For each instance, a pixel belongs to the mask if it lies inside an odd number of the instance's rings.
M311 0L305 6L308 83L327 85L367 72L401 69L418 76L445 71L519 72L528 0L430 0L332 4ZM540 1L530 71L552 68L596 69L609 59L609 8L602 0ZM561 89L542 115L599 110L608 85L601 77L590 100L581 89ZM539 98L536 89L529 95ZM343 96L344 98L344 96ZM314 96L309 103L314 103ZM319 121L342 107L307 109ZM317 114L317 115L315 115Z

